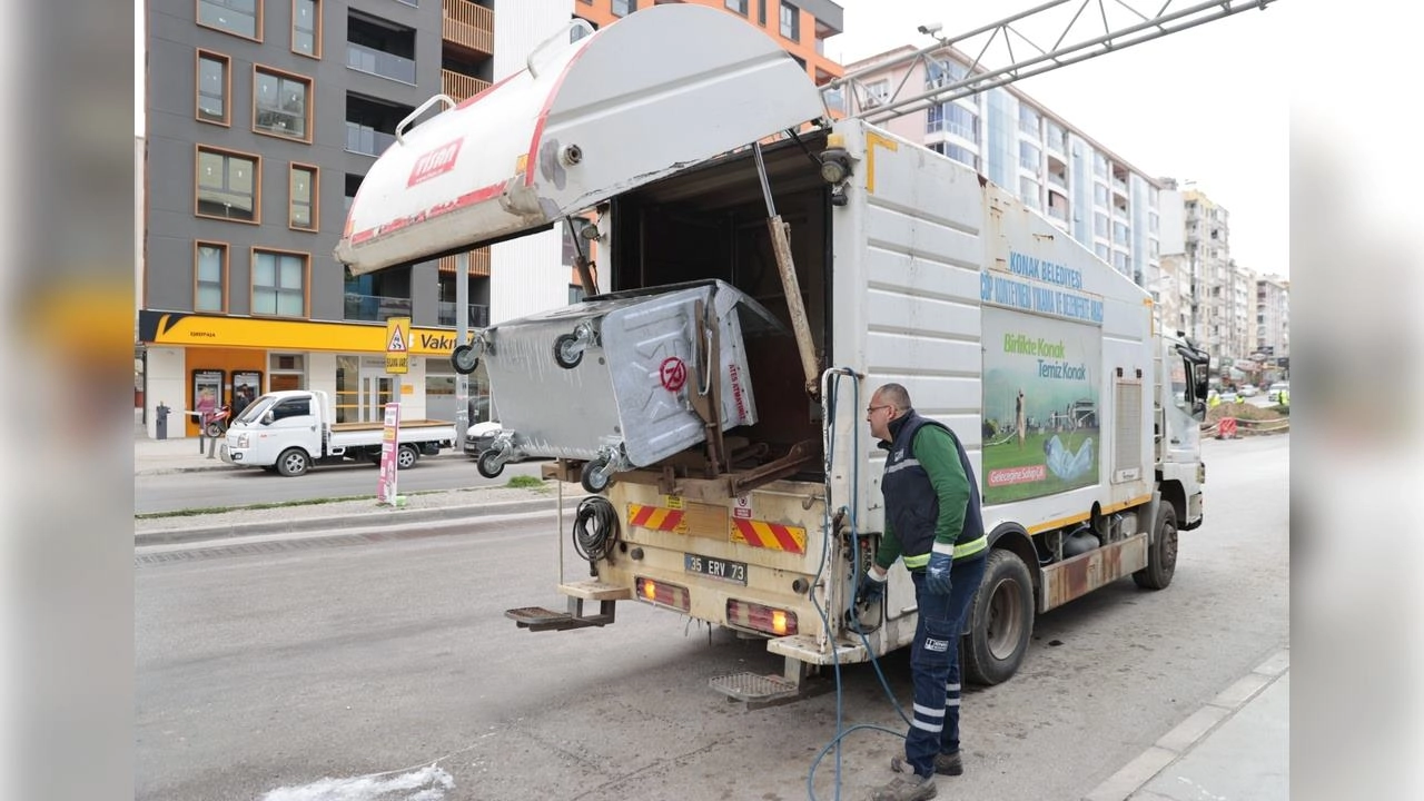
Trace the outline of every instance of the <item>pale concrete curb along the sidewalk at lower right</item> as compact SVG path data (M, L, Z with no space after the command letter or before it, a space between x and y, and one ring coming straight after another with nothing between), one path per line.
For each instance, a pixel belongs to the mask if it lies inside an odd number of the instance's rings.
M1218 693L1206 706L1163 734L1151 748L1108 777L1092 792L1084 795L1082 801L1126 801L1132 798L1159 772L1199 745L1289 670L1290 648L1284 648Z

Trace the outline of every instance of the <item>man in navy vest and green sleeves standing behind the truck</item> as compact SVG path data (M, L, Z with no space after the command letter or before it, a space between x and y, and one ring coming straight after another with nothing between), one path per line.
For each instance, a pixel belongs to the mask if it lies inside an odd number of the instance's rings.
M880 482L886 530L874 563L860 580L860 599L881 599L889 569L901 559L914 580L920 611L910 650L914 718L904 741L904 761L890 761L896 772L913 774L896 777L871 800L920 801L934 798L934 774L964 772L958 640L984 579L988 540L974 467L954 432L917 415L909 391L899 383L876 389L866 422L890 456Z

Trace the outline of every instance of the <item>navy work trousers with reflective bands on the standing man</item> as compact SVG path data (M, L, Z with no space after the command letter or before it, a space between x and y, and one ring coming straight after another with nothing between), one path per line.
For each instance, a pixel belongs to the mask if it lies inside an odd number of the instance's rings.
M931 593L924 572L911 570L920 619L910 646L914 715L904 738L906 761L918 775L934 772L934 755L960 750L960 633L984 580L984 556L954 562L950 594Z

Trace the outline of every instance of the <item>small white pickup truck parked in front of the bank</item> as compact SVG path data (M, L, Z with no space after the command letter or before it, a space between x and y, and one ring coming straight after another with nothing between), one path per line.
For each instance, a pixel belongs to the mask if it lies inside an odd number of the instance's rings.
M332 422L330 396L320 391L269 392L232 420L222 459L239 467L262 467L300 476L312 465L345 459L380 463L383 425ZM422 453L453 446L454 423L400 420L397 466L413 467Z

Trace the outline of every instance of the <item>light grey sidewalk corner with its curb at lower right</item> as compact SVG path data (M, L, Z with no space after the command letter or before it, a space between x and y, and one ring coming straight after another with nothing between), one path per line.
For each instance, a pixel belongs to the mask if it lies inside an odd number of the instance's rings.
M1168 731L1084 801L1290 798L1290 648Z

